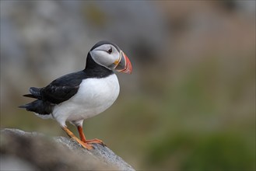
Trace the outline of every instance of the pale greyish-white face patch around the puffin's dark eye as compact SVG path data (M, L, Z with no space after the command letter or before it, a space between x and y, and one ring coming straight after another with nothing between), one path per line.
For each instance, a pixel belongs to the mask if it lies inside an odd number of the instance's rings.
M119 59L119 52L112 44L103 44L89 52L93 60L104 67L110 66Z

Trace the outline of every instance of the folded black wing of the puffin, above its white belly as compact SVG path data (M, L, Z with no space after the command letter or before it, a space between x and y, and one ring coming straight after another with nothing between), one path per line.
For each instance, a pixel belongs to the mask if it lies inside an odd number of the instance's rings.
M82 79L86 78L85 72L74 72L55 79L44 88L31 87L31 94L24 96L41 99L54 104L62 103L78 92Z

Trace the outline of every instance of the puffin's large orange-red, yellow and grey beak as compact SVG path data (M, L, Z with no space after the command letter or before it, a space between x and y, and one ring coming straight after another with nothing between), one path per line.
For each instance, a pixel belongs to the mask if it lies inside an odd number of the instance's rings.
M126 54L124 54L123 51L120 51L120 58L118 61L114 62L114 69L117 70L117 72L124 72L131 74L132 73L132 64L131 61L128 59Z

